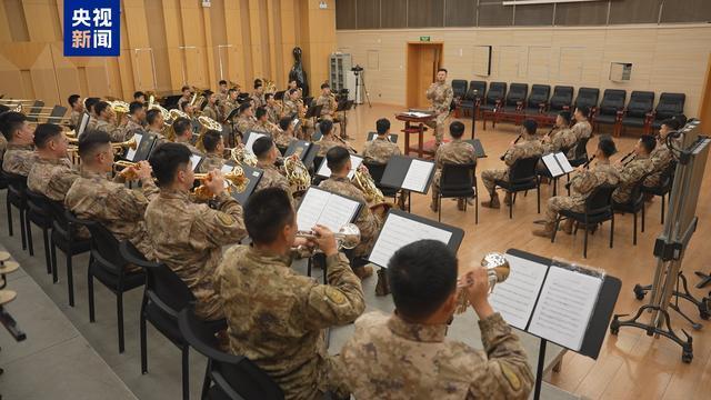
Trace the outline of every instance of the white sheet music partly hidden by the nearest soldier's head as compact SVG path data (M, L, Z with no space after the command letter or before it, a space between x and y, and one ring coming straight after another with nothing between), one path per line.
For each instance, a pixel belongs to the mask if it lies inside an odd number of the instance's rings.
M449 243L452 232L427 223L390 213L380 231L369 260L380 267L388 267L392 254L402 247L421 239L433 239Z

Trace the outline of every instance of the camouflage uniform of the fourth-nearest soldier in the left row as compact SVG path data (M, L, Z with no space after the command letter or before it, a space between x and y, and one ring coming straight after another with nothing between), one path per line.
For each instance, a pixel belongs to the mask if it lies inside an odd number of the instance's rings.
M77 217L100 222L117 240L128 240L146 256L156 259L151 239L146 230L143 213L149 200L158 196L152 181L142 189L131 190L107 179L106 173L82 171L67 192L64 204Z

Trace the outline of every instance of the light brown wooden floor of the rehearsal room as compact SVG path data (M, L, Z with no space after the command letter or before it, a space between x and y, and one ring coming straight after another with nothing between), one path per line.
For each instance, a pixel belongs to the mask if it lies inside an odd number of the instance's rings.
M389 118L392 133L398 133L402 124L394 119L394 114L402 108L393 106L373 104L372 108L359 106L350 112L348 132L354 137L352 143L362 149L367 132L374 131L375 120ZM453 121L450 118L450 121ZM471 120L461 120L467 124L469 138ZM598 132L595 132L598 133ZM428 140L431 133L425 133ZM477 138L489 156L479 160L477 176L489 168L500 168L503 163L499 157L505 151L509 142L518 136L512 124L499 124L497 129L483 131L477 123ZM404 138L400 133L399 146L404 149ZM620 154L630 151L634 144L633 138L615 139ZM590 141L589 151L597 146L597 139ZM621 157L621 156L618 156ZM710 163L711 164L711 163ZM707 169L701 198L699 199L698 231L691 240L683 261L683 270L690 282L695 284L698 279L693 271L711 271L711 249L705 240L711 236L709 221L711 220L711 167ZM482 200L487 200L483 186L479 181ZM552 188L541 190L541 211L544 211L545 200L550 198ZM412 212L437 220L437 213L428 208L430 197L413 196ZM622 280L622 292L615 307L615 313L634 313L641 301L635 300L632 288L635 283L648 284L657 266L652 254L653 242L662 230L660 223L659 198L647 209L647 229L639 233L638 244L632 246L632 216L620 216L615 219L614 248L610 249L609 224L602 231L590 238L588 259L582 258L582 232L578 236L559 234L555 243L543 238L533 237L531 230L538 226L533 221L541 219L535 212L535 193L527 198L519 197L510 220L508 210L479 209L479 224L474 224L474 210L458 211L453 201L442 204L442 222L465 230L464 241L459 251L460 262L477 264L482 256L490 251L505 251L517 248L544 257L560 257L579 263L602 268L609 274ZM711 289L711 288L710 288ZM708 290L692 289L697 297L708 296ZM688 303L682 310L694 319L699 319L695 308ZM694 359L691 364L682 363L681 348L672 341L648 337L639 329L622 328L619 336L608 334L599 359L592 360L582 356L569 353L563 359L562 371L553 373L548 380L562 389L591 399L709 399L711 398L711 322L701 321L703 328L694 331L680 317L672 313L672 326L681 334L680 329L693 336Z

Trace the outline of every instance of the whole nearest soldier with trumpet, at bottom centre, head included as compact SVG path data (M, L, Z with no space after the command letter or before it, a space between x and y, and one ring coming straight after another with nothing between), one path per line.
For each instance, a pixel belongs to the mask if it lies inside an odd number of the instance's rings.
M435 240L398 250L388 264L395 312L369 312L339 357L338 379L357 399L528 399L533 372L511 327L489 303L484 268L464 274L483 351L448 340L458 307L457 259ZM415 296L412 296L417 293Z

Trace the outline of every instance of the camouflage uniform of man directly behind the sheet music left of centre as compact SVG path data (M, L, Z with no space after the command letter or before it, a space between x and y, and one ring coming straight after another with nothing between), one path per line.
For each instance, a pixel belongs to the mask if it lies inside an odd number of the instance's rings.
M353 249L353 256L364 257L370 254L370 251L375 244L375 238L382 222L373 214L368 207L365 196L360 191L347 177L331 177L319 184L319 188L326 189L337 194L346 196L351 199L356 199L362 203L360 213L356 218L356 224L360 229L360 243Z

